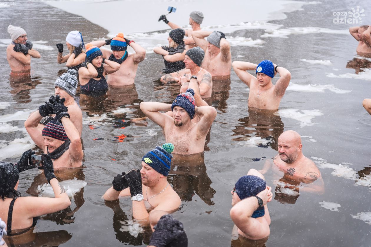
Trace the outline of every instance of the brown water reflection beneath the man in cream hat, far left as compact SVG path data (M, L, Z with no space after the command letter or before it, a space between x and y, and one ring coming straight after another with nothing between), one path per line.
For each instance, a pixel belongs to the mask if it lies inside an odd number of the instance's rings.
M34 78L36 80L31 80L30 70L13 71L10 73L9 81L10 93L13 95L14 101L17 103L30 103L30 90L35 89L36 85L40 84L39 78Z

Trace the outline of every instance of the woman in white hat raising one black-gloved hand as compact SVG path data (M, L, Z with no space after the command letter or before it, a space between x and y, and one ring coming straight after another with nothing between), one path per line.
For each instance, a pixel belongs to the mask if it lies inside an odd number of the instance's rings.
M59 43L56 45L58 48L58 63L66 63L68 69L74 69L78 71L81 64L85 61L85 49L84 40L79 31L70 31L66 37L66 46L69 50L69 54L63 56L63 44Z

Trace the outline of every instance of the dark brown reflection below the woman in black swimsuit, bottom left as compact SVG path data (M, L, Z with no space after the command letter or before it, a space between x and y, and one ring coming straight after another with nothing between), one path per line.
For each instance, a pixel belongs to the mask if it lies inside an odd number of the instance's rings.
M4 240L8 246L18 247L39 247L39 246L59 246L60 244L66 243L72 238L72 235L65 230L59 231L45 231L41 233L33 233L28 231L27 233L5 237Z

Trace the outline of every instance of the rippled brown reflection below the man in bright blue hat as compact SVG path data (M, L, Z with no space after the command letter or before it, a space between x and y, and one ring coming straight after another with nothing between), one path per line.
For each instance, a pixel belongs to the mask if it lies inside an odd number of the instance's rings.
M241 136L233 138L234 141L249 140L251 137L266 138L271 141L268 146L278 150L277 140L283 133L283 122L281 117L273 114L275 111L261 110L249 107L249 116L239 119L242 122L233 130L232 136Z

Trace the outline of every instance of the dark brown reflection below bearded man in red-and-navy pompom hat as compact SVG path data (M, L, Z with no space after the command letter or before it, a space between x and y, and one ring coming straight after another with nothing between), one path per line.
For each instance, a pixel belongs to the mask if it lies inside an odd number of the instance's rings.
M173 181L169 181L171 178ZM204 203L214 205L211 198L216 191L210 186L212 181L206 173L204 153L174 154L168 181L182 201L191 201L196 193Z

